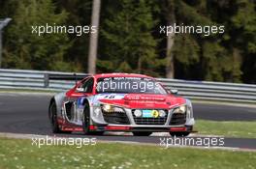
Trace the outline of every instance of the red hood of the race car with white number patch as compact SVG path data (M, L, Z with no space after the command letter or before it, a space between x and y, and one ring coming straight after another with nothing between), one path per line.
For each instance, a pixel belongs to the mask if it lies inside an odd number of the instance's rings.
M126 108L163 108L184 104L185 99L174 95L152 95L152 94L100 94L97 96L100 102L110 103Z

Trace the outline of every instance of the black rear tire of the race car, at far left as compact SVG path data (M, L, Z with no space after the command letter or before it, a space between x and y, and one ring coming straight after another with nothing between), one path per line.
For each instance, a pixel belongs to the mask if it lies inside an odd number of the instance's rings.
M48 117L51 126L51 131L53 133L71 133L72 131L63 131L59 128L57 121L57 106L55 100L50 101L48 107Z

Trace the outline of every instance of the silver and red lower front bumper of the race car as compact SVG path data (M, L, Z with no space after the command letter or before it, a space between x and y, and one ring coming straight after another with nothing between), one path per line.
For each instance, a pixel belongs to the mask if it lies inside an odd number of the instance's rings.
M193 126L195 124L195 120L193 118L193 112L191 111L190 114L186 114L184 117L184 121L182 123L171 123L174 120L174 107L173 109L168 110L167 117L165 119L165 122L163 124L138 124L138 121L135 121L135 117L133 114L133 109L123 108L124 109L124 115L120 117L126 117L128 120L128 123L124 119L120 119L119 122L124 123L110 123L106 122L106 117L104 117L103 113L98 114L95 116L95 114L91 114L91 126L90 130L96 130L96 131L152 131L152 132L163 132L163 131L188 131L193 132ZM93 112L93 108L91 109L91 112ZM113 121L112 121L113 122Z

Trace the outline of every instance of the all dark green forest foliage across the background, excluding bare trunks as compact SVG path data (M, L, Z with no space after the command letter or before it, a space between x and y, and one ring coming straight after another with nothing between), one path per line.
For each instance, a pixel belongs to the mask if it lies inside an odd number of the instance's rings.
M169 4L169 5L168 5ZM92 0L1 0L4 68L87 70L89 36L32 34L31 26L89 25ZM224 25L208 37L176 35L175 77L256 83L256 12L252 0L104 0L101 7L98 72L164 76L167 18L183 25ZM174 10L174 13L171 13ZM175 17L173 18L173 15Z

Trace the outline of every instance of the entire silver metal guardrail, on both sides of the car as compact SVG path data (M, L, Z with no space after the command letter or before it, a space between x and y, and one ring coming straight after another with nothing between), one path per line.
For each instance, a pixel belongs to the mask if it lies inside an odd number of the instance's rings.
M41 70L6 70L0 69L0 88L63 91L76 83L65 78L57 80L58 75L71 77L72 72ZM86 73L76 73L87 76ZM256 103L256 85L222 83L208 81L188 81L158 78L167 88L175 88L178 94L189 99L217 100L229 102Z

